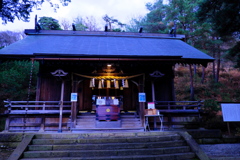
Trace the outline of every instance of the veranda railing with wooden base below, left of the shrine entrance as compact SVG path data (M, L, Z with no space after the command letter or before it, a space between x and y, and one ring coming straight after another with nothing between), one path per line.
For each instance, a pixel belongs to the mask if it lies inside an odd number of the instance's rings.
M6 131L68 130L71 102L4 101L8 118ZM63 128L62 128L63 126Z

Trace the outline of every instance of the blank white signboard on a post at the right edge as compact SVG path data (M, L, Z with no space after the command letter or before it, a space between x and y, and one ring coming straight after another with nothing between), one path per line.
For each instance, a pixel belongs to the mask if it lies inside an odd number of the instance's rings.
M240 121L240 103L222 103L221 106L224 122Z

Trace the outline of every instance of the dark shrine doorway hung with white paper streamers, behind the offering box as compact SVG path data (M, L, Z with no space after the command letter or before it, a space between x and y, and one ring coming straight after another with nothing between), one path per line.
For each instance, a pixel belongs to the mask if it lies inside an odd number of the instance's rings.
M135 80L138 78L121 80L85 78L81 80L77 86L78 110L96 111L97 99L103 99L105 102L117 99L118 103L114 104L119 105L121 111L136 111L139 91Z

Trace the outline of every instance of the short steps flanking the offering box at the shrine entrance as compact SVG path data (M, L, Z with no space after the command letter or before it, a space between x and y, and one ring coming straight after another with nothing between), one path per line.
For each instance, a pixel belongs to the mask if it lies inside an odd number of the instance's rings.
M134 113L121 114L121 127L104 127L96 128L96 114L84 113L77 116L77 124L75 128L72 128L72 132L86 132L86 131L144 131L144 127L141 125L141 120ZM111 122L109 122L111 123ZM111 125L111 124L110 124Z

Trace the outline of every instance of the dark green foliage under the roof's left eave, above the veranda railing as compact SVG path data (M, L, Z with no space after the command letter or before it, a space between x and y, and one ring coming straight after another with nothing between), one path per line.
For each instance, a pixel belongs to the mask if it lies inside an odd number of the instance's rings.
M32 63L30 61L9 61L0 64L0 103L3 100L27 100ZM39 64L34 63L30 100L35 99ZM0 108L3 104L0 104Z

